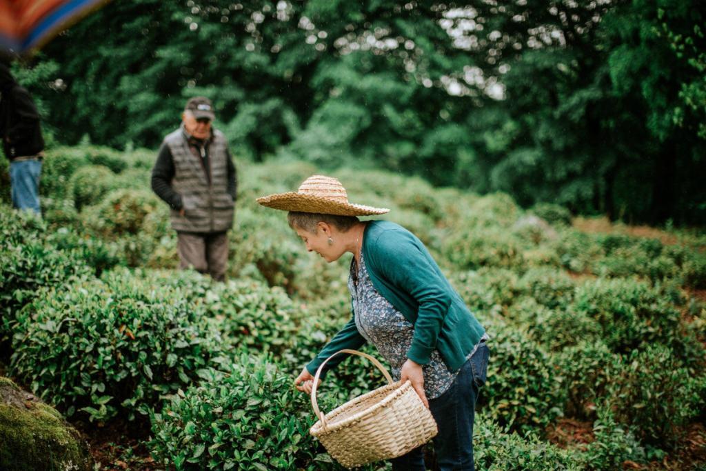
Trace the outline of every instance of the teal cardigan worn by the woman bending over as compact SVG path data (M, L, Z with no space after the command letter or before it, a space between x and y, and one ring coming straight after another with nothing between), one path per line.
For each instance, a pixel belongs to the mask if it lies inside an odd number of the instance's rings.
M371 221L363 235L363 254L373 287L414 325L407 358L426 364L431 352L437 349L450 371L459 369L485 330L424 244L394 222ZM330 355L343 348L357 350L365 342L353 314L306 369L316 374L318 366ZM325 370L343 359L343 355L331 359Z

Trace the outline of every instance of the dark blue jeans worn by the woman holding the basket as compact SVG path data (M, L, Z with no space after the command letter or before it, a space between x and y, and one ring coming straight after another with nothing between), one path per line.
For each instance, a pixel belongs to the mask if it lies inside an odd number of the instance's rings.
M429 400L429 410L439 433L433 439L436 462L442 471L474 471L473 420L480 388L486 382L490 351L485 342L461 366L455 381L438 398ZM390 460L395 471L424 471L423 446Z

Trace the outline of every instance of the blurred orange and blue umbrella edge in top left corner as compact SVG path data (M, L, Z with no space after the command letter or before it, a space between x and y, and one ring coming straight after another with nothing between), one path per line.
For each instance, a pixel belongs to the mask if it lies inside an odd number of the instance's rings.
M0 49L27 54L109 0L0 0Z

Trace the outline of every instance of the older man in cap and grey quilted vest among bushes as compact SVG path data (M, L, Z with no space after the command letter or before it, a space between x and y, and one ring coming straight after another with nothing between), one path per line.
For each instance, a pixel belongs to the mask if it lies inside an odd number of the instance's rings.
M208 98L186 102L181 126L160 147L152 190L172 208L179 268L192 267L224 281L237 174L225 136L213 129L213 119Z

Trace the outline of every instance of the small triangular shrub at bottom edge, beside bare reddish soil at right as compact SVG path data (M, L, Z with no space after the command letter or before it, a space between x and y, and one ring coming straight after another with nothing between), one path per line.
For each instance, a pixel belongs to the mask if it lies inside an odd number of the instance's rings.
M613 413L600 407L593 424L595 440L582 453L580 463L589 470L621 470L627 460L645 461L645 449L628 427L616 422Z

